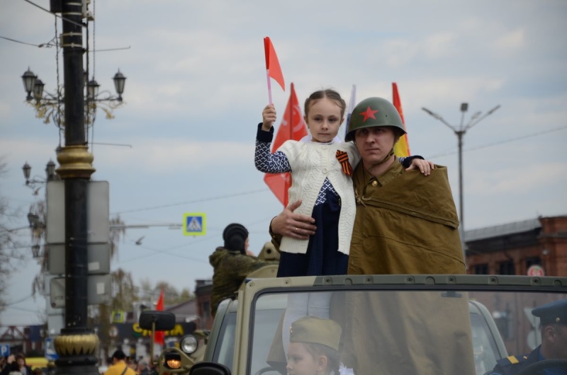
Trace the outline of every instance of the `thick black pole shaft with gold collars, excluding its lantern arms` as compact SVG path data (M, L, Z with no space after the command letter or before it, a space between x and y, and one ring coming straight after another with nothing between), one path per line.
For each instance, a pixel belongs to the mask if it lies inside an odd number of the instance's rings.
M87 322L86 194L95 169L84 126L83 8L82 1L77 0L53 3L61 6L65 93L65 146L57 156L57 175L65 189L65 317L61 335L55 337L59 354L56 373L99 375L95 356L99 337L89 330Z

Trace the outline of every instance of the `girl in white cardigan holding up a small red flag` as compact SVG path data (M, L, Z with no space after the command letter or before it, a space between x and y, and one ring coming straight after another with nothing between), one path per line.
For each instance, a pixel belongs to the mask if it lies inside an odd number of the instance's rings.
M335 137L344 120L346 104L333 90L315 91L305 100L305 124L310 139L287 141L270 154L276 120L274 105L266 105L259 125L254 163L264 173L291 172L289 200L301 198L296 212L315 219L309 241L284 237L278 277L345 275L354 221L352 168L360 156L352 142ZM344 168L342 167L344 164Z

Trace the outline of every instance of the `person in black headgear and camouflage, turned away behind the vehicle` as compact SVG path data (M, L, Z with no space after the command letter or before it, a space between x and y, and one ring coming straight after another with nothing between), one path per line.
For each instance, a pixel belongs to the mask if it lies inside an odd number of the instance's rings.
M242 224L229 224L223 231L224 246L216 248L209 256L213 266L213 292L210 294L210 312L214 317L220 301L232 296L246 276L265 265L248 253L248 230Z

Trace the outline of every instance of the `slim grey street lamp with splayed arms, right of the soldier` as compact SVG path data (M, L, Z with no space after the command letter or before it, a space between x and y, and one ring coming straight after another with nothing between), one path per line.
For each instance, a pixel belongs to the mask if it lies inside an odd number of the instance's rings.
M471 129L474 125L481 122L485 117L492 115L495 110L498 110L500 105L495 106L495 108L489 110L487 113L482 115L482 113L476 112L471 118L468 120L468 124L464 125L465 113L468 110L468 103L461 103L461 125L459 128L454 127L453 125L449 124L449 122L445 121L443 117L438 115L437 113L428 110L427 108L422 108L428 115L434 117L435 120L439 120L447 125L449 129L451 129L456 137L459 146L459 234L461 236L461 246L463 248L463 256L466 260L466 242L465 242L465 226L464 226L464 202L463 202L463 137L466 134L468 129Z

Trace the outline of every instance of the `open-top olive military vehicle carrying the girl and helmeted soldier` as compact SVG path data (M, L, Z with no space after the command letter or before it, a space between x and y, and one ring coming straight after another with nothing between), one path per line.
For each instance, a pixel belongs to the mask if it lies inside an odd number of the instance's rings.
M347 275L248 279L223 301L203 362L218 374L285 374L281 316L288 296L330 293L341 358L354 374L484 374L539 345L534 306L567 298L566 277ZM164 371L167 369L163 361ZM179 371L181 373L181 371ZM217 374L215 373L215 374ZM376 373L376 372L373 372Z

